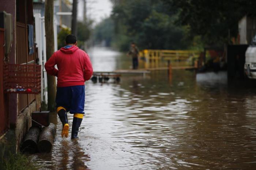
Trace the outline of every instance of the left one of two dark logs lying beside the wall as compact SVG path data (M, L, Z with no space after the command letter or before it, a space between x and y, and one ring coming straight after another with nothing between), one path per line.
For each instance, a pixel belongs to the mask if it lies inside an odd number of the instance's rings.
M20 147L22 152L34 154L37 152L37 142L41 129L39 127L31 127L25 136L24 142Z

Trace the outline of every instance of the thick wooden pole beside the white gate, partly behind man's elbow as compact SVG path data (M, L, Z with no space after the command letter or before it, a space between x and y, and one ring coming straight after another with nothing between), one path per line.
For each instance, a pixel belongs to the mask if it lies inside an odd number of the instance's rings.
M53 0L45 0L46 59L54 53ZM55 110L56 79L47 74L48 110Z

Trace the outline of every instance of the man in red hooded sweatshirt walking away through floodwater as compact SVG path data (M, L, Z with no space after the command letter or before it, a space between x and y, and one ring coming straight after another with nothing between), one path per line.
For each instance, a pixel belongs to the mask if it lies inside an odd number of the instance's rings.
M57 65L58 69L54 66ZM77 47L76 37L67 35L65 47L53 53L45 63L48 74L57 77L56 108L63 125L61 137L68 137L67 112L74 115L71 139L78 138L84 115L84 82L93 74L89 56Z

